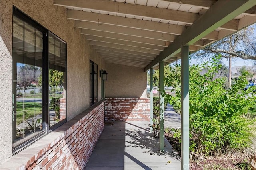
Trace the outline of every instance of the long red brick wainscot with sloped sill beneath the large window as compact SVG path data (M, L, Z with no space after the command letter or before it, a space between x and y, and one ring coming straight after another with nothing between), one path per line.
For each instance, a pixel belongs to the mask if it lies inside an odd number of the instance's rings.
M101 102L22 150L0 165L0 169L82 170L103 129Z

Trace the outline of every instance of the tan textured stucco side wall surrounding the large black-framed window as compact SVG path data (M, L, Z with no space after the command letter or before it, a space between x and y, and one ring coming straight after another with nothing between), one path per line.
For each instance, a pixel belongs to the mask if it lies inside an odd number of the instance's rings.
M12 6L46 27L67 43L67 119L89 107L89 59L96 55L89 41L66 19L66 9L53 1L0 1L0 164L12 156ZM98 68L103 61L99 60ZM100 86L98 90L100 96ZM99 98L100 100L100 98Z

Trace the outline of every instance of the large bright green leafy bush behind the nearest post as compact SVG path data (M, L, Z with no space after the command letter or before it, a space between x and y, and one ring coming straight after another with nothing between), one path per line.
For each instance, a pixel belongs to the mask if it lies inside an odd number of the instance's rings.
M190 151L199 154L240 150L249 147L254 138L250 129L255 119L244 116L255 102L254 89L242 90L248 83L245 75L234 80L231 88L224 88L226 79L215 76L221 68L218 59L189 69ZM180 65L170 69L176 74ZM176 96L165 94L168 101L180 109L180 74L165 81L176 90Z

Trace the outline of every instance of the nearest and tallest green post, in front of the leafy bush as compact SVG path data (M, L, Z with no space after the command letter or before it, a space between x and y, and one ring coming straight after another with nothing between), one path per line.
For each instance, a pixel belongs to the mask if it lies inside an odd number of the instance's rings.
M189 60L188 46L181 48L181 166L189 169Z

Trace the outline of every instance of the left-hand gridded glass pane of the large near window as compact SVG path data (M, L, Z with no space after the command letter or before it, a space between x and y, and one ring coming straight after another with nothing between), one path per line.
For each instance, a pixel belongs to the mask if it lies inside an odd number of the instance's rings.
M13 145L42 131L42 32L13 16Z

